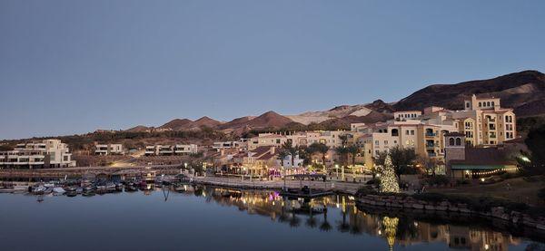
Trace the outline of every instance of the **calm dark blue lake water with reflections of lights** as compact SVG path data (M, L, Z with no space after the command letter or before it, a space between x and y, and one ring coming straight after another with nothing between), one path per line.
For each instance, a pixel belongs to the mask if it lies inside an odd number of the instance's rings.
M326 213L320 211L327 207ZM295 209L293 209L295 208ZM315 208L313 213L310 208ZM433 222L433 223L431 223ZM472 224L471 224L472 225ZM84 198L0 194L0 250L542 250L490 227L359 209L349 197L193 188Z

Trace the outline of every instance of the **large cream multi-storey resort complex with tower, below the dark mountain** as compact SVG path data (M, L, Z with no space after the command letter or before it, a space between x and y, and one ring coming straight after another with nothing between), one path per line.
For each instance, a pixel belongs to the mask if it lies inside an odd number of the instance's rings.
M517 137L514 112L501 108L497 98L472 95L471 100L464 101L463 111L432 106L425 108L423 113L396 111L394 118L394 121L371 125L351 125L358 144L368 146L364 152L376 157L383 150L401 146L413 148L421 156L442 160L446 146L444 137L450 132L463 134L463 144L475 147L496 146Z

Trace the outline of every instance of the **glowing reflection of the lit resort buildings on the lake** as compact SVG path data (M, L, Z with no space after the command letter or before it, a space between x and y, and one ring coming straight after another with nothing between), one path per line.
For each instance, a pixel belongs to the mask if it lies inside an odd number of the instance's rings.
M290 227L310 227L351 235L384 238L391 249L421 243L441 242L452 249L508 250L520 239L489 229L432 224L409 217L387 217L358 209L352 197L282 198L274 191L247 191L230 188L186 186L178 191L202 196L224 207L237 207L250 215L269 217ZM332 217L333 216L333 217Z

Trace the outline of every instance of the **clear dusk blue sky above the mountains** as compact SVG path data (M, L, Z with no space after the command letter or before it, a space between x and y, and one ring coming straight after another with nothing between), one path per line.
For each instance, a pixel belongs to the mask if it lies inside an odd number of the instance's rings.
M440 3L441 2L441 3ZM0 1L0 139L545 72L545 1Z

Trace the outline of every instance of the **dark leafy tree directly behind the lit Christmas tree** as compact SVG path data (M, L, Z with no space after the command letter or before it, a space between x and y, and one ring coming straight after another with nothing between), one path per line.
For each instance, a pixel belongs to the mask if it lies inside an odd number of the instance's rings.
M412 174L416 172L416 169L413 167L417 157L414 149L395 146L389 151L379 152L375 159L375 164L383 166L386 156L390 156L391 165L393 166L395 175L398 179L401 179L401 174Z

